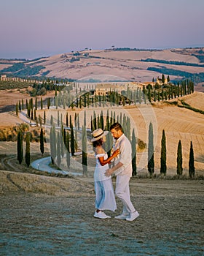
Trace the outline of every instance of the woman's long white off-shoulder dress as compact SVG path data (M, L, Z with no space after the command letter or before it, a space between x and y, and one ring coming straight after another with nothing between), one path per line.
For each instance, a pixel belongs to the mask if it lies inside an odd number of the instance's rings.
M103 211L110 210L115 211L117 209L114 188L112 184L111 177L105 176L106 170L109 169L109 165L101 165L98 157L108 158L108 155L97 154L95 172L94 172L94 181L95 181L95 208Z

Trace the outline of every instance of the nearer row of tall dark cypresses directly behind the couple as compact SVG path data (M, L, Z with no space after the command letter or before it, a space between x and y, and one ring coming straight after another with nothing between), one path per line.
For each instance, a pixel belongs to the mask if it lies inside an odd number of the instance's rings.
M95 122L95 119L97 120ZM90 137L90 132L87 132L86 124L82 126L82 130L80 131L82 133L82 171L83 175L87 176L87 138ZM100 121L99 121L100 120ZM93 118L93 129L102 128L104 124L104 120L101 122L102 118ZM109 130L110 124L111 124L111 117L107 118L106 121L109 120L106 125L103 127L103 129ZM112 121L118 121L117 119L112 119ZM127 117L127 124L128 124L128 117ZM53 121L53 118L51 118L51 128L50 128L50 154L52 159L52 164L58 165L60 167L61 159L65 157L66 155L66 165L68 169L70 168L71 163L71 156L74 156L76 151L78 150L78 141L77 141L77 132L79 132L79 129L76 126L75 127L72 124L71 116L70 116L70 129L65 129L63 127L63 124L61 124L60 129L56 129L55 123ZM96 126L95 126L96 125ZM75 129L74 129L75 128ZM138 140L135 135L135 131L133 129L131 136L130 136L130 126L127 125L127 128L125 129L125 135L127 138L129 137L129 140L132 145L132 167L133 167L133 176L137 175L137 165L136 165L136 146L138 143ZM111 151L111 135L109 134L107 136L106 140L106 150L109 152ZM43 129L41 129L40 132L40 151L42 154L44 154L44 132ZM166 175L167 174L167 164L166 164L166 157L167 157L167 150L166 150L166 138L165 138L165 130L162 130L162 139L161 139L161 152L160 152L160 174ZM26 132L26 165L29 167L30 165L30 132ZM20 129L17 133L17 160L21 164L23 161L23 132ZM181 140L178 141L178 147L177 147L177 165L176 165L176 174L178 176L183 175L183 157L182 157L182 146L181 146ZM149 124L149 138L148 138L148 159L147 159L147 168L149 172L149 176L152 176L154 174L154 132L153 132L153 125L152 123ZM195 160L194 160L194 151L193 151L193 145L192 141L190 142L190 150L189 150L189 177L193 178L195 176Z

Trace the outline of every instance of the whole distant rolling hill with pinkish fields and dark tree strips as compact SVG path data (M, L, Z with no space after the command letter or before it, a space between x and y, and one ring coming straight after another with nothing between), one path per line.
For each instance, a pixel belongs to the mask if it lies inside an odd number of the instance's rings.
M191 79L204 91L204 48L81 50L34 60L0 60L0 74L105 82L148 82L162 73L171 81Z

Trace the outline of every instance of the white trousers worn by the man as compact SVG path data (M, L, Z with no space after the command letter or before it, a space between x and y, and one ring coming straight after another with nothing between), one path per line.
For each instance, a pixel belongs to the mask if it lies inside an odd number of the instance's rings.
M130 201L129 181L129 176L117 175L115 195L117 195L117 197L122 201L123 214L129 214L130 212L136 211L133 203Z

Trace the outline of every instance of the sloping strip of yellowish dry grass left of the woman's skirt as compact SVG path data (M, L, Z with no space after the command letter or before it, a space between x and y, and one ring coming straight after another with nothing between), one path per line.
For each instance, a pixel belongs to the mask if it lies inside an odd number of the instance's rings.
M32 192L55 196L93 195L93 184L74 178L55 178L29 173L0 170L0 194L9 192Z

